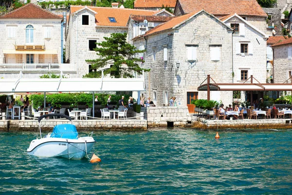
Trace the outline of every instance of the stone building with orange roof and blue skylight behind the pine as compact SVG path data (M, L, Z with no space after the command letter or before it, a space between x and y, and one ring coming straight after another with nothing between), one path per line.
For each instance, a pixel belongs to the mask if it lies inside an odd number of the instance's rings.
M104 37L110 37L111 33L128 33L130 15L157 14L164 15L153 10L71 6L65 33L66 62L76 63L77 77L88 74L90 64L85 60L98 58L94 51L96 42L104 41Z

